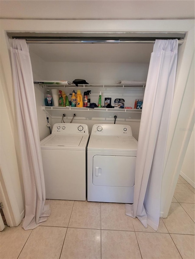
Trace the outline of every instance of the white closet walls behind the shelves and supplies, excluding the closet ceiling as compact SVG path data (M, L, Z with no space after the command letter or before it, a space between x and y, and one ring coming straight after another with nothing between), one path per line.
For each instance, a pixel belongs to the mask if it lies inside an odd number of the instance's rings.
M65 45L66 46L66 45ZM66 63L66 62L45 62L36 54L30 52L31 63L33 69L34 80L68 80L72 82L74 79L85 79L90 84L116 84L119 80L131 81L146 81L149 64L133 64L133 63ZM62 114L65 113L64 118L66 122L70 122L73 114L76 113L76 118L73 122L87 124L89 130L95 123L114 123L114 114L117 114L118 124L127 124L132 127L133 136L138 140L139 126L141 114L135 116L131 113L113 112L81 112L81 111L45 111L41 106L44 105L44 93L49 88L43 88L35 85L35 97L37 104L37 118L39 125L40 140L49 135L49 129L46 126L46 117L49 117L49 123L52 125L60 123ZM51 89L51 88L50 88ZM64 90L66 95L72 93L73 88L60 88ZM77 90L77 87L74 88ZM84 89L81 88L83 95ZM102 105L105 97L112 98L112 105L115 98L123 98L125 106L134 107L135 99L143 99L144 89L130 89L130 88L89 88L91 90L91 102L98 104L99 92L102 92Z

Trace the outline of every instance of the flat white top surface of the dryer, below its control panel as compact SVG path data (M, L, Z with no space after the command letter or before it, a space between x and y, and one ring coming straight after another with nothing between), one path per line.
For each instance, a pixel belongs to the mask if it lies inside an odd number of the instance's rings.
M133 136L91 135L87 150L137 152L137 143Z

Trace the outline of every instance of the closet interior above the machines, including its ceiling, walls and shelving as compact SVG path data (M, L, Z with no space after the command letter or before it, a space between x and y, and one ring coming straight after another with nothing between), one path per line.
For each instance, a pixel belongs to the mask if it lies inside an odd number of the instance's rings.
M73 119L73 123L87 124L89 132L96 123L130 125L133 136L138 140L141 109L134 109L135 99L143 99L145 83L150 62L153 43L30 43L29 52L32 63L34 81L73 82L75 79L84 79L85 85L39 85L34 84L37 104L37 118L40 140L49 135L55 123L65 123ZM121 80L138 82L123 84ZM105 97L111 98L113 106L116 98L125 100L125 107L120 108L74 108L74 107L47 107L44 106L46 90L63 90L67 96L73 90L90 90L90 102L98 104L101 91L101 104L104 106Z

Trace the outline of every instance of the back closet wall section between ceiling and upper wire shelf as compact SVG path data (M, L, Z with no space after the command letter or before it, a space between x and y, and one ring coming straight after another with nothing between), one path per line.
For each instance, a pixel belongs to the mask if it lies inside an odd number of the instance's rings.
M85 79L89 84L116 84L119 80L146 81L149 61L148 64L47 62L47 78L70 82Z

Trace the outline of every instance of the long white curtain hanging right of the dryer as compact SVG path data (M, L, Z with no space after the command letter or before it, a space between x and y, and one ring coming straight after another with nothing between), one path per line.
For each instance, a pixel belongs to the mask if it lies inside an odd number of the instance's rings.
M137 148L134 203L126 215L158 229L165 148L171 115L178 40L156 40L151 53Z

